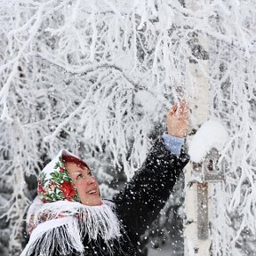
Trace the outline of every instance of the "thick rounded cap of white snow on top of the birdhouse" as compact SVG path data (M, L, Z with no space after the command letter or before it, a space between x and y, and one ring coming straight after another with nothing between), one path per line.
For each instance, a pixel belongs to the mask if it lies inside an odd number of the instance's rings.
M227 130L220 122L215 120L206 121L190 142L188 148L190 160L194 163L200 163L212 148L221 151L228 141L228 137Z

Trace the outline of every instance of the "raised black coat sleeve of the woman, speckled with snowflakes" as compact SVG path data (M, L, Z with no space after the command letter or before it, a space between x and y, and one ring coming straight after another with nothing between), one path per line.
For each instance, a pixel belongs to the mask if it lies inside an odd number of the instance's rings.
M183 150L177 157L165 148L161 138L155 141L140 170L113 198L116 213L130 236L137 239L156 220L188 160Z

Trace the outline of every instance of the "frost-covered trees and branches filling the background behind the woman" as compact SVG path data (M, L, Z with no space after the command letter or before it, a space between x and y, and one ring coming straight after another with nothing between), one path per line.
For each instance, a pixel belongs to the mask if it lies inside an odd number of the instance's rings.
M1 255L20 255L36 176L60 148L93 166L103 196L131 179L173 101L204 100L189 65L229 135L212 255L255 255L254 0L0 0L0 25ZM183 255L182 186L141 238L169 255Z

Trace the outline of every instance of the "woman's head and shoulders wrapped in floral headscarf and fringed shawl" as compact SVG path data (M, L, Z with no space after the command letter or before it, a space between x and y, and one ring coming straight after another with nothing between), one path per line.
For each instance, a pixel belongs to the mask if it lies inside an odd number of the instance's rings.
M28 209L30 238L22 256L83 252L85 235L89 241L100 236L110 252L110 241L121 236L113 204L101 200L99 184L88 165L66 149L40 173L37 195ZM84 236L79 237L81 229Z

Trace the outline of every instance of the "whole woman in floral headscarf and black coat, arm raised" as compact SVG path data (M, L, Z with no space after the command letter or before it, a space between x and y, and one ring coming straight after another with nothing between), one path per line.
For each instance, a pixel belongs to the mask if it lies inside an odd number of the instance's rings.
M181 150L188 125L182 101L167 113L167 131L145 163L112 201L100 198L89 166L61 149L38 177L28 209L28 244L20 256L140 256L140 235L164 207L188 155Z

